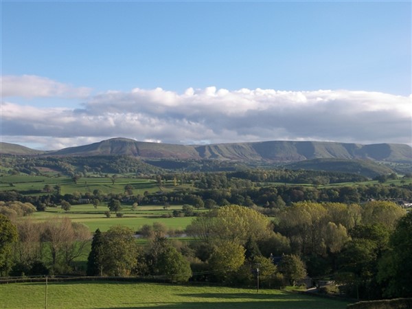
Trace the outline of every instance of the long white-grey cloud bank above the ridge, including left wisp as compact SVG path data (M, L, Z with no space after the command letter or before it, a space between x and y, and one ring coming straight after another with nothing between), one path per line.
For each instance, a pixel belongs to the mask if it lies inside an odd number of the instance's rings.
M172 144L264 140L411 144L411 96L348 90L229 91L207 87L176 93L136 88L89 95L82 108L38 108L6 97L75 98L89 90L33 76L6 81L2 141L38 144L43 149L108 137Z

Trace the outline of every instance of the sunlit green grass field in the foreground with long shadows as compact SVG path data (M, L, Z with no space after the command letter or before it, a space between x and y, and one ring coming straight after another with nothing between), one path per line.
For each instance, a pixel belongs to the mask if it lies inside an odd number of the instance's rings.
M0 308L45 308L45 284L0 285ZM346 308L348 303L280 290L131 282L53 282L47 308Z

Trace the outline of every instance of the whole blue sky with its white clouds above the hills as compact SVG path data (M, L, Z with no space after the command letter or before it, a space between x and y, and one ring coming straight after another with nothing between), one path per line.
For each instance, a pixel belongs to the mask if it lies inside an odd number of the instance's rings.
M1 141L412 145L411 1L8 1Z

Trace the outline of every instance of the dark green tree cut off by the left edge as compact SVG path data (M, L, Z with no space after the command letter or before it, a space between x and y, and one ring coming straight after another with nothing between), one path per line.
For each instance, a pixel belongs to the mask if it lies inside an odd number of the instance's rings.
M7 275L10 268L10 253L17 241L17 229L9 218L0 214L0 273Z

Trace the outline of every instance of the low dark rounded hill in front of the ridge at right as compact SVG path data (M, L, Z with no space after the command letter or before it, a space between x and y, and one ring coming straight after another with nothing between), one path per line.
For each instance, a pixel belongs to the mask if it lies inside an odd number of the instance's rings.
M393 173L385 165L370 160L348 159L313 159L285 165L290 170L323 170L327 172L345 172L374 178L382 174Z

